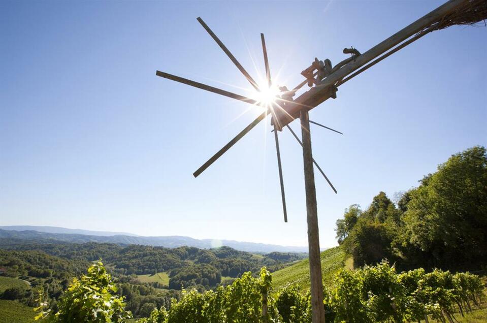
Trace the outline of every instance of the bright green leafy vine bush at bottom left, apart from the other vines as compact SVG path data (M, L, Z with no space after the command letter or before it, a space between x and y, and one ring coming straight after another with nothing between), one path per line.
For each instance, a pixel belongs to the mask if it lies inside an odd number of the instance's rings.
M58 303L53 315L41 313L52 322L123 322L131 317L124 310L123 298L115 294L117 288L101 262L88 268L88 273L75 278ZM43 310L42 294L40 297Z

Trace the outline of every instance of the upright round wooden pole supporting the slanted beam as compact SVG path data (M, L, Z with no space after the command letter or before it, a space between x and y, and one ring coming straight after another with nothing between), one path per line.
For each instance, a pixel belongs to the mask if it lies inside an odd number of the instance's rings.
M324 323L323 281L319 254L318 208L316 187L314 186L313 156L311 153L311 133L309 131L308 110L300 112L301 136L303 138L304 184L306 188L306 213L308 221L308 257L311 280L311 316L313 323Z

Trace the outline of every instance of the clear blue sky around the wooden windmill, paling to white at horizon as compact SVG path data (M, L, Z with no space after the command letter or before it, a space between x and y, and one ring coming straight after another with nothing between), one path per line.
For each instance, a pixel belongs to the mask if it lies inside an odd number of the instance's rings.
M258 111L241 116L245 103L155 71L249 93L201 16L255 78L264 33L271 73L291 88L315 56L364 52L440 4L1 2L0 224L306 245L295 139L280 137L284 223L264 123L192 176ZM336 244L350 204L365 208L380 190L392 197L451 154L487 144L486 57L487 28L435 31L310 113L345 134L312 127L314 157L338 189L316 174L321 247Z

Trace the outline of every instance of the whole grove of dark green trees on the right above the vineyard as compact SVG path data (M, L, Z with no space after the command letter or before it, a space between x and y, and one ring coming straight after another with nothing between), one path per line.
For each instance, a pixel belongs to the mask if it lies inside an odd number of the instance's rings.
M452 155L403 193L398 207L384 192L366 211L350 206L336 231L355 267L388 259L402 269L481 269L487 265L487 150Z

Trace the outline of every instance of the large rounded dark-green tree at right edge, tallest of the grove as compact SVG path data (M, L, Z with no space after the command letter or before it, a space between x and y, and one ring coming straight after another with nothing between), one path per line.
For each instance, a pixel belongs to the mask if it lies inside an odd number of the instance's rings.
M404 253L416 247L429 267L453 268L487 257L487 154L473 147L452 155L409 192ZM468 250L468 252L465 252Z

